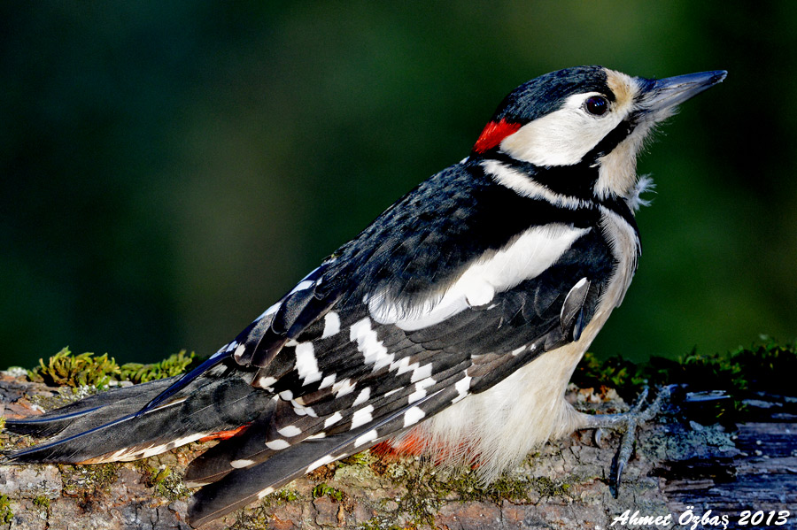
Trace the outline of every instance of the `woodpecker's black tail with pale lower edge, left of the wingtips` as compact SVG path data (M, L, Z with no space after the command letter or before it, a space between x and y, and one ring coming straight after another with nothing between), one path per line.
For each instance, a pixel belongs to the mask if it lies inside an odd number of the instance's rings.
M202 378L170 401L140 413L164 388L143 387L139 394L121 388L97 396L93 404L55 411L47 419L16 421L10 427L15 432L58 434L8 459L84 464L135 460L243 426L274 408L274 396L242 378Z

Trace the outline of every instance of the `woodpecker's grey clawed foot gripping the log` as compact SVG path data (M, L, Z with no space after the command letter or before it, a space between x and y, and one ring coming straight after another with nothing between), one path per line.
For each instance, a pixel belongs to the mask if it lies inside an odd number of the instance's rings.
M659 394L654 399L654 402L646 407L647 393L647 388L642 390L637 402L634 403L630 411L622 414L597 414L594 416L587 416L584 426L580 427L582 429L595 429L594 438L597 445L600 445L601 429L609 428L623 430L620 447L617 449L617 453L612 460L609 480L609 490L615 498L620 489L623 470L633 453L634 442L637 436L637 427L644 424L646 421L654 419L656 414L662 410L662 404L669 400L670 388L664 387L659 390Z

